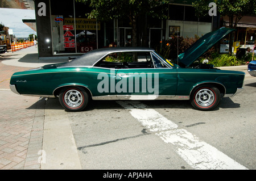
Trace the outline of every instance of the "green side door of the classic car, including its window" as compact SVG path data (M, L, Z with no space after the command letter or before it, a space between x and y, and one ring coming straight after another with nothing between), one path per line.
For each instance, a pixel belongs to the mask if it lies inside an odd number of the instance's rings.
M147 100L174 97L177 89L176 69L165 65L153 52L146 53L148 65L143 66L145 52L136 52L136 54L135 62L126 62L126 68L117 70L115 78L117 98Z

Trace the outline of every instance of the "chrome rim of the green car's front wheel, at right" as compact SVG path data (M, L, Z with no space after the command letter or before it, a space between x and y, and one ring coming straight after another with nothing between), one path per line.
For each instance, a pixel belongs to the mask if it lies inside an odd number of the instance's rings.
M214 102L214 92L209 89L201 89L196 93L195 100L199 106L208 107Z

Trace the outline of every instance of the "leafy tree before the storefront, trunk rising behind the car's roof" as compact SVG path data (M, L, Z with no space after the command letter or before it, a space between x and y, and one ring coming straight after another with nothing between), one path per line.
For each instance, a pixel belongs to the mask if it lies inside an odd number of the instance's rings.
M167 0L76 0L90 7L88 18L97 18L100 21L128 18L133 28L133 47L137 47L137 18L139 15L150 15L164 19L164 5ZM167 12L167 11L165 11Z

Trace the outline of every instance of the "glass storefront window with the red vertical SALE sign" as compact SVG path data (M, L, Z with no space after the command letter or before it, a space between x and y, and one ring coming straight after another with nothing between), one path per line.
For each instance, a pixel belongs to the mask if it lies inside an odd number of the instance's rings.
M87 19L85 10L84 3L51 1L53 54L86 53L97 49L100 23Z

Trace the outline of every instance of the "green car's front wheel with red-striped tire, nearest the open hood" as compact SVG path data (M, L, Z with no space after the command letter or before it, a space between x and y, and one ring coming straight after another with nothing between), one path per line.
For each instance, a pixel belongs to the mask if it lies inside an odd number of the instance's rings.
M199 86L191 94L191 105L196 110L209 111L218 106L220 91L214 86Z

